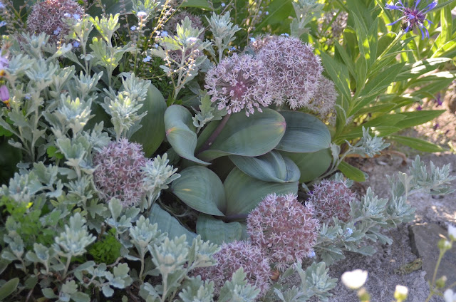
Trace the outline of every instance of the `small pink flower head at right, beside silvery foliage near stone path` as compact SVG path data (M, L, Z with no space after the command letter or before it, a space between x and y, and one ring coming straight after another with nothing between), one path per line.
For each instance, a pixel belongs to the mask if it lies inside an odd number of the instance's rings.
M323 179L310 193L308 202L316 207L321 222L332 222L337 217L343 222L350 219L350 203L356 202L356 194L343 182Z

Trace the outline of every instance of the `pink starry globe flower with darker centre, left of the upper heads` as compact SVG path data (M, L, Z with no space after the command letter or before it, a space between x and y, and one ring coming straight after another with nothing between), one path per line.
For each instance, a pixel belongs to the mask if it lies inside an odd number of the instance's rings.
M219 110L238 113L246 109L246 115L254 114L255 108L271 103L269 75L262 61L246 54L224 58L206 74L206 88L211 101L218 103Z

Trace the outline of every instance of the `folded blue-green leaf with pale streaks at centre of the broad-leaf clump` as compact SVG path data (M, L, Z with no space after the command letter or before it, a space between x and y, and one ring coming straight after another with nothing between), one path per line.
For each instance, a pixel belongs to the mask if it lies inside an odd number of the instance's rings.
M245 174L265 182L296 182L301 176L298 166L275 150L259 157L232 155L229 159Z

